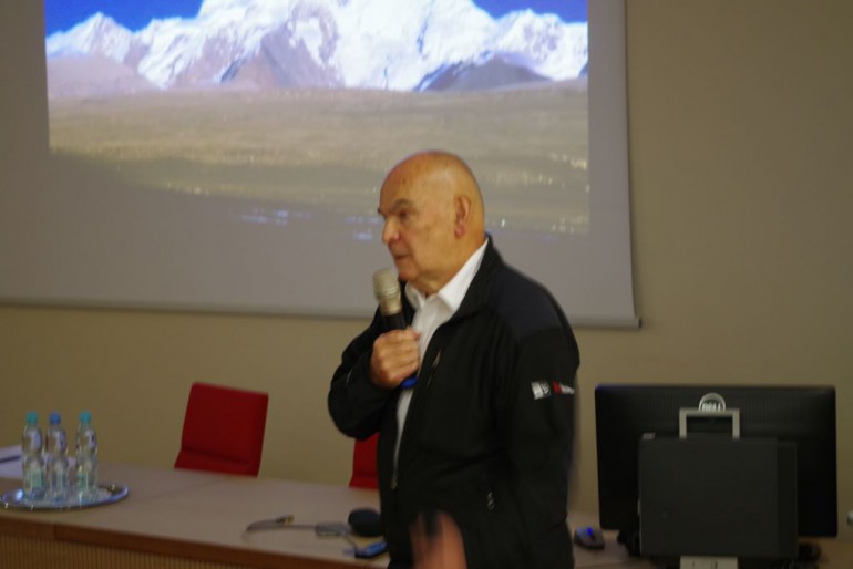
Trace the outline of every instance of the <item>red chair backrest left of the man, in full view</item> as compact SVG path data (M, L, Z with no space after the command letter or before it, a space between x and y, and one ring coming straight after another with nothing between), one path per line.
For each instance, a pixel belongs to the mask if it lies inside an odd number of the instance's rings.
M175 468L257 476L269 395L193 383Z

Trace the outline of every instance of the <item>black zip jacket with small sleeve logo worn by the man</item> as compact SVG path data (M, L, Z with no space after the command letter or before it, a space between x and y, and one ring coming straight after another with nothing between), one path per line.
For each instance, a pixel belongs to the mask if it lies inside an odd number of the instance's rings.
M404 296L403 296L404 297ZM404 302L407 321L412 308ZM329 391L338 428L380 431L378 468L391 559L411 559L426 510L460 526L470 569L572 568L566 526L577 343L561 308L508 266L491 240L456 313L421 359L397 473L399 390L370 382L382 320L345 350Z

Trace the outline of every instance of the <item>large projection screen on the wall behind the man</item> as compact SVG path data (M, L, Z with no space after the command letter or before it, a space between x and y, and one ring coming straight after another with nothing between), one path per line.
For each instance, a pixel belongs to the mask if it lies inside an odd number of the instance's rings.
M59 3L0 24L3 302L367 318L382 178L443 148L575 325L638 324L623 0Z

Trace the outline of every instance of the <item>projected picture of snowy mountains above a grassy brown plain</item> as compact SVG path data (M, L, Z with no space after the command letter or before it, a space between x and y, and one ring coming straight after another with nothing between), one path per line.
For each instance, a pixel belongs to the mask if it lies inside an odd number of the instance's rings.
M440 147L471 163L492 227L588 228L586 22L471 0L206 0L132 31L102 3L45 40L64 157L370 216L394 162Z

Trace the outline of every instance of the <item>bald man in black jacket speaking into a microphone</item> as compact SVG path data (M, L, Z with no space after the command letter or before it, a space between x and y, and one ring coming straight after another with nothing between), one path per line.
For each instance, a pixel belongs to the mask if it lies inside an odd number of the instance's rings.
M573 568L566 515L579 355L563 311L504 263L458 156L430 151L400 162L382 184L379 214L410 325L386 330L377 312L343 351L328 404L346 435L380 433L389 567L413 566L411 528L441 511L459 528L469 569Z

